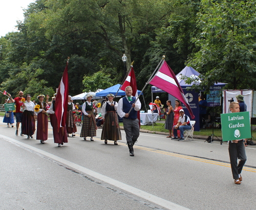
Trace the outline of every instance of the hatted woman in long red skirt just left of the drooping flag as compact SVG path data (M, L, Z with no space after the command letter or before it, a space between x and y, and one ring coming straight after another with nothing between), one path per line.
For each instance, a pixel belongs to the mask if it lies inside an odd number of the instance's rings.
M48 99L49 96L46 95L46 102L44 102L45 95L39 95L37 97L39 102L35 108L37 113L37 130L36 130L36 140L40 140L42 144L48 139L48 114L47 110L49 109Z

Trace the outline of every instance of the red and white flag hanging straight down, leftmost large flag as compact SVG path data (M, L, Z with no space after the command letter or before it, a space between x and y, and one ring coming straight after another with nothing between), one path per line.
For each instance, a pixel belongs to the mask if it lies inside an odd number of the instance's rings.
M58 92L55 102L55 114L58 120L58 128L65 127L68 111L69 100L69 78L68 78L68 62L64 70L63 76L59 83Z

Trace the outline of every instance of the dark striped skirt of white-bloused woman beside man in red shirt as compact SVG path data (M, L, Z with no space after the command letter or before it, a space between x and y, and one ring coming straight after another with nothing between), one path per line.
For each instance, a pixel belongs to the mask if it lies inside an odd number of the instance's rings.
M22 133L28 136L33 136L35 132L35 119L32 113L25 110L22 117Z

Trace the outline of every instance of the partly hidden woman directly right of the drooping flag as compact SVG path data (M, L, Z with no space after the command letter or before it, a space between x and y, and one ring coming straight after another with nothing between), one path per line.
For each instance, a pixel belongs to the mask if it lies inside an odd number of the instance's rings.
M71 102L71 96L69 96L68 112L67 112L67 120L66 120L66 128L67 128L68 137L69 137L69 133L72 133L72 137L76 136L75 132L77 130L76 130L76 123L75 123L74 114L73 114L74 110L75 110L75 106Z

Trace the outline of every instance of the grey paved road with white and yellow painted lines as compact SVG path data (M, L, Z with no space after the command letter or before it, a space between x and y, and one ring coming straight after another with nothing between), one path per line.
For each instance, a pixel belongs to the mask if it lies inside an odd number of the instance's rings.
M62 147L50 124L46 144L4 123L0 131L0 209L255 209L255 146L235 185L226 143L141 133L130 157L124 131L116 146L101 129L83 141L78 127Z

